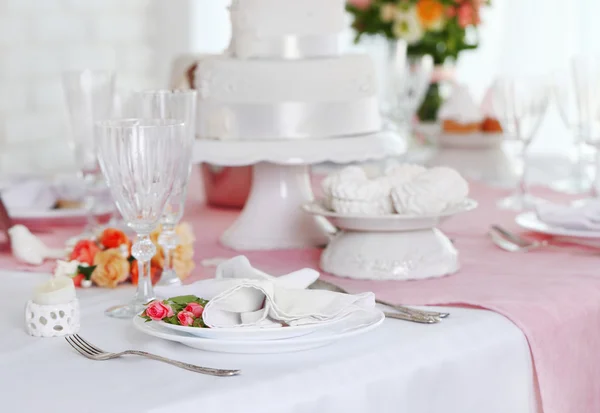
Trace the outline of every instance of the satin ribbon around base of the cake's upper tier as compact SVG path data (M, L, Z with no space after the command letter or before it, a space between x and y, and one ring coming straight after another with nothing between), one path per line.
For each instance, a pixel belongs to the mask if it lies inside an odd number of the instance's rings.
M240 34L232 41L234 56L278 59L307 59L341 54L339 35L259 36Z

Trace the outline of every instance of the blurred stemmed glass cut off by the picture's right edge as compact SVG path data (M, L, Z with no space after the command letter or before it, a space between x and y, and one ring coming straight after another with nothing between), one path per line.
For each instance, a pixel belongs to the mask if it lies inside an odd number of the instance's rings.
M575 95L575 131L595 149L592 198L600 198L600 56L578 56L572 61Z

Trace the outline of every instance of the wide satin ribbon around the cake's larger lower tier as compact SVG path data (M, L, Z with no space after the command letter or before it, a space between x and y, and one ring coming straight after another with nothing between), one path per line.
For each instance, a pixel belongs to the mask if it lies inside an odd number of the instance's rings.
M325 139L380 130L376 97L350 102L198 104L198 134L236 140Z

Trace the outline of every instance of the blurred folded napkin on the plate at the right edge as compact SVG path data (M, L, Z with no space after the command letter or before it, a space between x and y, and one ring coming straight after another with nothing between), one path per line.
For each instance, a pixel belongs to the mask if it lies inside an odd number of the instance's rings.
M600 231L600 202L588 201L583 205L540 204L538 219L548 225L574 230Z

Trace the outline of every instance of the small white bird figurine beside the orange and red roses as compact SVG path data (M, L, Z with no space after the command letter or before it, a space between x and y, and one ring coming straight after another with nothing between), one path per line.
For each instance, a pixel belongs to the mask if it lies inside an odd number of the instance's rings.
M16 259L31 265L41 265L46 259L65 257L65 251L48 248L27 227L15 225L8 230L12 253Z

